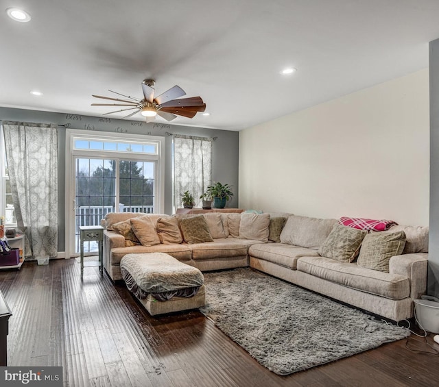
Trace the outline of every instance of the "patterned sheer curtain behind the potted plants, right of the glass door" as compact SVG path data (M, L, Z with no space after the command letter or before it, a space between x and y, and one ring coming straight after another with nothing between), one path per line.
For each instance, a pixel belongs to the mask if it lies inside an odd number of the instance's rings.
M189 191L195 206L212 182L212 138L174 136L174 205L182 207L181 195Z

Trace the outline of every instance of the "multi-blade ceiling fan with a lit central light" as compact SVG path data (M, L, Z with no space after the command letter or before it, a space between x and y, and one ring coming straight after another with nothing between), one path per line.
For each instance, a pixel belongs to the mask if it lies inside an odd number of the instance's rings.
M135 110L134 112L124 116L122 118L129 118L134 114L140 113L146 117L146 122L154 121L154 118L158 114L165 118L167 121L172 121L177 116L183 116L187 118L193 118L197 112L204 112L206 110L206 103L203 102L201 97L189 97L180 98L186 95L186 92L180 88L180 86L174 86L169 90L163 92L161 95L154 97L154 80L144 79L141 83L143 91L143 99L134 98L130 95L123 95L120 92L114 92L127 99L102 97L102 95L93 95L95 98L109 99L110 101L118 101L123 103L92 103L92 106L131 106L130 108L115 110L114 112L104 113L112 114L118 112L125 112L127 110Z

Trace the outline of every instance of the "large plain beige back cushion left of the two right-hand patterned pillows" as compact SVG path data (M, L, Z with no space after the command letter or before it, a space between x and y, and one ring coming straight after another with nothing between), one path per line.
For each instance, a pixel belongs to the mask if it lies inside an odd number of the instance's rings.
M281 242L318 250L336 223L337 219L289 216L281 232Z

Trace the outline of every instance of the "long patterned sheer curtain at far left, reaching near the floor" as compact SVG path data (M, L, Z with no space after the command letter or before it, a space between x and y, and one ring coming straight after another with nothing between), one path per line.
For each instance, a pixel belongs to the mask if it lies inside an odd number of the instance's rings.
M45 263L58 253L58 126L3 121L3 133L17 225Z

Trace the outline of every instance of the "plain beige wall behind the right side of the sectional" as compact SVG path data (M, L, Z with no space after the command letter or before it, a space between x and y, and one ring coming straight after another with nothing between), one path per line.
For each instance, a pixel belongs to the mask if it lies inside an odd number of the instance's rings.
M428 70L241 131L239 206L428 225Z

